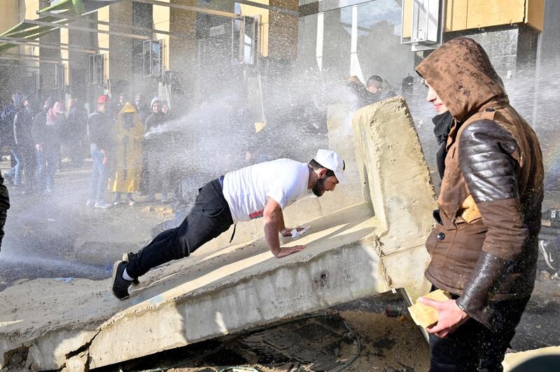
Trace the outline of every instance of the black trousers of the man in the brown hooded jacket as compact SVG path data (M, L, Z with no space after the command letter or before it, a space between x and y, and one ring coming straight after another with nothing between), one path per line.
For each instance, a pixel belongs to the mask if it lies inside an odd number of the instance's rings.
M505 351L529 297L491 303L500 319L496 332L470 318L445 338L430 334L430 372L503 371Z

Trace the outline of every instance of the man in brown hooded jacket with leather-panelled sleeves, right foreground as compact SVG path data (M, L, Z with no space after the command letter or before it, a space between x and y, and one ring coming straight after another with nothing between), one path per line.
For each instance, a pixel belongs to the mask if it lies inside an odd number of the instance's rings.
M543 196L535 132L510 106L486 52L470 38L444 43L416 68L427 101L453 122L426 278L449 301L439 313L430 371L502 371L535 282Z

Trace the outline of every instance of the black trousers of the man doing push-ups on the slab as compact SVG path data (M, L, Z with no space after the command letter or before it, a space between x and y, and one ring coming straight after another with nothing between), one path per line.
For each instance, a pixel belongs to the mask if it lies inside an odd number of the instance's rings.
M138 253L129 255L128 275L138 278L155 266L187 257L227 231L233 220L222 189L223 177L199 189L193 209L179 227L163 231Z

